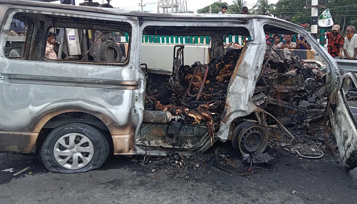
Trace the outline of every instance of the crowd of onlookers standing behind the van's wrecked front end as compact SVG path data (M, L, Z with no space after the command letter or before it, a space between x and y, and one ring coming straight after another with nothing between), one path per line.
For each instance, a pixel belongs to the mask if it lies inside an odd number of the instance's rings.
M227 14L227 5L222 5L221 12L219 14ZM249 14L248 8L243 7L241 14ZM308 24L300 24L301 27L307 28ZM339 25L332 26L332 32L327 32L327 52L336 58L343 58L348 60L355 60L357 56L357 34L355 33L355 28L353 26L348 26L346 28L346 37L342 37L340 34ZM295 42L292 42L295 36ZM271 40L273 38L274 40ZM305 40L303 36L291 35L291 34L266 34L267 43L274 44L275 49L300 49L300 50L310 50L311 46ZM242 48L244 46L238 43L228 44L228 47L233 45L234 48Z

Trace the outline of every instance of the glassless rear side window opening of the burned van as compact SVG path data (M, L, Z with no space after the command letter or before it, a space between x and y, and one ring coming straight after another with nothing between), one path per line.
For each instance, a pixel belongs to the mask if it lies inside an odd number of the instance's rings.
M39 22L39 25L31 22ZM9 31L5 48L5 56L8 58L25 59L21 57L23 47L27 45L27 52L29 52L32 43L31 36L26 37L26 34L29 35L30 32L36 30L39 37L36 41L40 41L41 37L43 41L33 42L32 47L34 50L41 50L42 56L37 56L36 52L31 56L32 59L80 61L80 63L100 62L110 65L128 63L132 31L131 25L124 21L88 20L70 16L18 12L14 15L11 28L13 30ZM50 32L53 33L52 44L47 43L51 37L48 37ZM40 49L42 46L43 49ZM46 47L51 51L51 57Z

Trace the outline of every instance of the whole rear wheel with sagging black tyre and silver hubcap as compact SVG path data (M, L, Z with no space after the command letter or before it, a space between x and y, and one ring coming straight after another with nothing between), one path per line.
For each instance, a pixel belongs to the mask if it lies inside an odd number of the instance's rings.
M84 123L52 130L41 147L41 160L51 172L77 173L99 168L109 154L104 135Z

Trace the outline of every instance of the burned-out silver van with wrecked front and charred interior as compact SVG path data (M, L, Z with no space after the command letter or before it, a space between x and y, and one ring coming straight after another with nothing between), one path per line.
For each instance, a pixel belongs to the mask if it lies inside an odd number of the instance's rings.
M28 1L0 0L0 11L0 151L38 152L49 171L70 173L110 153L190 155L228 141L264 162L274 131L295 141L285 126L302 123L328 125L342 161L357 166L345 97L357 79L302 27ZM304 36L313 59L279 54L272 33Z

